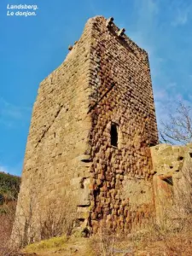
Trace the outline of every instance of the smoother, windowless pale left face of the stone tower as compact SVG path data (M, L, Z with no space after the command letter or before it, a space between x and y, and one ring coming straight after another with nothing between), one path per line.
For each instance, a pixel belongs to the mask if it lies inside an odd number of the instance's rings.
M77 205L88 204L87 190L80 183L89 168L81 160L89 148L91 126L90 44L91 20L66 60L39 86L12 232L20 245L44 238L47 218L61 215L63 208L68 218Z

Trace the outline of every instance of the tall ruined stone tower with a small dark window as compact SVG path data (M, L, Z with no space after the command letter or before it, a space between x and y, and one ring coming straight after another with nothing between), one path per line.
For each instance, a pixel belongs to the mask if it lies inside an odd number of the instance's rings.
M40 84L12 237L42 239L51 204L55 214L66 204L90 232L104 222L144 227L154 207L149 146L157 142L148 54L113 19L88 20Z

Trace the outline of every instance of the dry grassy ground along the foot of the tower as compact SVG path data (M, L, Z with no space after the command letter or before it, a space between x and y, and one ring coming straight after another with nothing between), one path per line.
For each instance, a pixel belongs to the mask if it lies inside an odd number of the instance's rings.
M191 231L157 234L136 233L132 236L55 237L27 246L23 252L37 256L190 256ZM112 253L113 248L113 253Z

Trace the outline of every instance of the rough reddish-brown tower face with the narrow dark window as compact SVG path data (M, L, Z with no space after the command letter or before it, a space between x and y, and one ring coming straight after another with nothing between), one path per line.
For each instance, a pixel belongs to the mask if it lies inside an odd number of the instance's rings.
M91 224L140 229L153 212L149 146L158 142L148 54L98 17L91 44ZM118 132L112 145L112 126Z

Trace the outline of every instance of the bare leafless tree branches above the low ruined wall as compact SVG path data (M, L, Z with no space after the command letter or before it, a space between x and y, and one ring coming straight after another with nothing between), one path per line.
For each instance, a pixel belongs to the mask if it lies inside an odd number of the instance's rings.
M178 102L175 113L169 113L169 119L161 121L161 126L161 143L192 143L192 109L183 102Z

